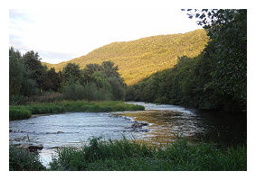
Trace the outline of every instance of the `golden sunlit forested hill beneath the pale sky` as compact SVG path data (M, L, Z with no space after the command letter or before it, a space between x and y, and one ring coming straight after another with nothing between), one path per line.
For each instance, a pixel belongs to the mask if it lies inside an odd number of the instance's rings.
M183 34L158 35L139 40L113 42L80 58L73 58L60 64L46 64L61 70L68 63L79 64L84 68L87 64L111 60L119 66L119 73L128 85L152 75L156 71L174 67L177 57L194 58L208 41L206 32L190 31Z

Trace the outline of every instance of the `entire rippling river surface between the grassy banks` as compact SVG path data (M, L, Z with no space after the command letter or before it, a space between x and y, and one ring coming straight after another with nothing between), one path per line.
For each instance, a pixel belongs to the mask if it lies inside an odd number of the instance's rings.
M81 147L92 137L147 140L169 143L184 137L191 141L223 144L246 142L246 116L223 112L202 112L181 106L143 103L142 112L71 112L9 122L12 144L43 144L44 165L56 147ZM138 122L147 126L132 128Z

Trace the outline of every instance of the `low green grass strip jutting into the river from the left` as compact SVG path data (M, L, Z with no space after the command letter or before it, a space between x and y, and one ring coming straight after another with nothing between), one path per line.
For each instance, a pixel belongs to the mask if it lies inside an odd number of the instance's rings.
M142 111L144 106L119 101L62 101L58 103L30 103L27 105L10 105L9 120L23 120L32 114L62 112L123 112Z

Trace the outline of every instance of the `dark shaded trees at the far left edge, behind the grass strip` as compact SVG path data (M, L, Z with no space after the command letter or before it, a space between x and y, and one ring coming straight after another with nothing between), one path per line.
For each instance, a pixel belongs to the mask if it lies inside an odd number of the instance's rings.
M57 91L60 87L55 81L51 85L47 83L55 78L60 82L59 76L54 69L47 71L47 67L43 67L38 53L33 50L22 56L18 50L11 47L9 49L9 69L10 104L26 103L31 101L35 95L42 94L44 90Z

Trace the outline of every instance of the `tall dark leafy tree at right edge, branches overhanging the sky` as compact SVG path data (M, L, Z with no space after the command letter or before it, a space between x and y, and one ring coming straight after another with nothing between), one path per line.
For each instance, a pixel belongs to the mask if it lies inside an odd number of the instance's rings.
M187 10L204 26L210 42L205 58L213 61L211 85L220 94L246 105L247 96L247 10Z

